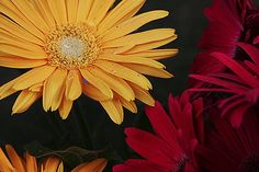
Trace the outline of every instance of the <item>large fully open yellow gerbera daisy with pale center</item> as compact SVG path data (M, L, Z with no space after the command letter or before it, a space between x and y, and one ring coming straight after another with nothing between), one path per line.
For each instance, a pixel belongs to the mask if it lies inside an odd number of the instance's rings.
M133 33L168 15L135 15L145 0L1 0L0 66L30 69L0 88L0 99L21 91L12 112L43 96L45 111L67 118L81 93L99 101L116 124L135 99L154 105L147 76L170 78L158 59L177 49L157 49L177 38L173 28Z

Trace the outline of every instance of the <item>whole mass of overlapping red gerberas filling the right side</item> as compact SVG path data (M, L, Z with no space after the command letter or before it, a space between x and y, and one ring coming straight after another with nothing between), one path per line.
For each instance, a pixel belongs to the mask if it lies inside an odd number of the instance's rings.
M114 172L259 171L259 10L251 0L214 0L205 15L191 88L169 96L170 115L158 102L146 107L155 134L125 129L143 159Z

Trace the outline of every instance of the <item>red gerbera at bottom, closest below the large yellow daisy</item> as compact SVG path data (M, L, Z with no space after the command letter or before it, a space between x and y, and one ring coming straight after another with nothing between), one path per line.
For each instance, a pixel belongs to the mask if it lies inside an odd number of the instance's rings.
M181 98L169 96L167 115L161 104L147 106L146 114L155 134L137 128L126 128L127 145L145 160L131 159L113 168L114 172L198 172L193 154L203 142L203 101L190 102L188 93Z

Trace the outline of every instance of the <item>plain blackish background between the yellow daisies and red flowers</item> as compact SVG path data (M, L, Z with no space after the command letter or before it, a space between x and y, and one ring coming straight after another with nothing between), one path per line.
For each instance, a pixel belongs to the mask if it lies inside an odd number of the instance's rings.
M151 94L165 105L169 92L179 94L187 87L189 67L196 54L196 44L206 25L203 9L211 4L211 0L147 0L140 12L164 9L170 15L164 20L153 22L142 30L155 27L173 27L179 36L178 41L167 47L179 48L180 54L164 60L167 70L174 73L170 80L150 78L154 90ZM0 68L0 83L3 84L23 70ZM125 110L125 121L121 126L112 123L102 107L94 101L81 96L75 102L72 112L67 121L61 121L57 113L45 113L38 101L24 114L11 116L11 108L15 95L0 101L0 145L11 144L19 151L23 146L37 140L50 149L65 149L79 146L85 149L103 149L112 147L122 159L132 157L124 142L123 128L137 126L150 129L143 112L144 105L138 104L138 114L131 114Z

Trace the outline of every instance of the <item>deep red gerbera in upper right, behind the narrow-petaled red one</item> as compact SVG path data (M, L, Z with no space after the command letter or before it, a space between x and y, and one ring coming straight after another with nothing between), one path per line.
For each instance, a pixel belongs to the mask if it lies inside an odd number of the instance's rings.
M205 9L209 26L200 41L201 53L194 58L192 72L210 74L224 70L224 66L211 54L221 51L230 58L235 57L236 43L246 42L245 19L247 10L252 8L251 0L214 0L214 3Z

